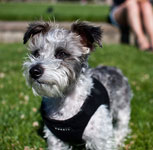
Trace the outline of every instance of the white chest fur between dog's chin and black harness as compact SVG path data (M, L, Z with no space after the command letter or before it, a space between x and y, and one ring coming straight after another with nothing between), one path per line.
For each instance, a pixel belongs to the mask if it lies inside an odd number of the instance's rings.
M62 106L56 107L56 104L52 104L52 110L50 118L56 120L65 120L73 117L79 111L88 95L91 93L93 83L91 78L81 78L76 84L73 92L69 94L65 99L61 100ZM59 104L57 104L59 105Z

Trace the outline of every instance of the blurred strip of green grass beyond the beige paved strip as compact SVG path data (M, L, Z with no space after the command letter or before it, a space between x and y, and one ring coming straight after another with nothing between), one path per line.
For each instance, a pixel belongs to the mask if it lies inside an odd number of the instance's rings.
M51 7L52 13L47 13ZM0 3L0 20L107 21L109 7L79 3Z

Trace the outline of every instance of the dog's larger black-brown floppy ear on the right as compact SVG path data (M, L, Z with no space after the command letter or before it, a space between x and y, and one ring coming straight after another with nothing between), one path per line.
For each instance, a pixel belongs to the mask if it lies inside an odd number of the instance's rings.
M100 27L88 25L85 22L75 22L71 26L71 31L81 36L81 43L92 51L96 44L102 47L102 30Z

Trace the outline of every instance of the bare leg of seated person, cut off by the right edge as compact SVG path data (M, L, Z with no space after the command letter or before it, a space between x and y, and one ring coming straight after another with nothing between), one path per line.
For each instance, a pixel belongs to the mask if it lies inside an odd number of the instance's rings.
M143 16L145 30L150 38L150 44L153 48L153 11L149 1L141 2L140 8Z

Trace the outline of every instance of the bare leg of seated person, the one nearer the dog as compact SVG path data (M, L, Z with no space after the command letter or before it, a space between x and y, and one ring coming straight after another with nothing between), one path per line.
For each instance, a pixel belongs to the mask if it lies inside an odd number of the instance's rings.
M121 25L128 24L135 33L141 50L149 48L149 42L142 29L140 8L135 0L127 0L115 11L115 19Z

